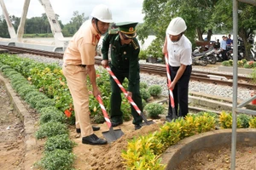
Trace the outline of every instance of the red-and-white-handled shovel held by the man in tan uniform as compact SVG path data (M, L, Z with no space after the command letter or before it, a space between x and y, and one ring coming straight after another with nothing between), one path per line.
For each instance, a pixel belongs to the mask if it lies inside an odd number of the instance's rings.
M105 139L107 139L108 143L111 143L117 139L119 139L121 136L124 135L121 129L115 129L113 130L112 123L110 122L108 118L108 113L103 105L102 97L100 95L97 96L97 100L99 101L99 104L102 108L102 113L104 115L105 121L107 122L107 125L109 127L109 131L102 132Z

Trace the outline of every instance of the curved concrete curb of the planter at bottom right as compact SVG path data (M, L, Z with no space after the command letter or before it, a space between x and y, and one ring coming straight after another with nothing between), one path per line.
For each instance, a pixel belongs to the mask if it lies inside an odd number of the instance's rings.
M256 129L239 128L236 130L236 143L249 145L256 144ZM207 133L200 133L181 140L172 145L161 156L161 163L166 164L166 169L172 170L179 163L199 150L216 147L222 144L231 144L232 129L221 129Z

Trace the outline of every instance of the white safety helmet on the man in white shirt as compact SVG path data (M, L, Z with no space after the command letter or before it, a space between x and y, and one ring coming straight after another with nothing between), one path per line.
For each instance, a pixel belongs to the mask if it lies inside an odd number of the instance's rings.
M169 26L167 27L166 33L172 36L177 36L186 30L187 26L185 21L182 18L177 17L171 20Z

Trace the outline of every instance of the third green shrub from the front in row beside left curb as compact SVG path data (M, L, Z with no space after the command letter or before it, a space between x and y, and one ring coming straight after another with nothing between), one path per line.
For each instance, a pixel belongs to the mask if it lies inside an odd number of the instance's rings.
M61 122L46 122L36 132L37 139L44 139L58 134L67 134L67 126Z

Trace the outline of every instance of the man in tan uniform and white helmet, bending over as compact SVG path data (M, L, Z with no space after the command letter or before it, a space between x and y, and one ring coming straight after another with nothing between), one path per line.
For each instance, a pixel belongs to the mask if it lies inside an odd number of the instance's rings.
M112 13L105 5L97 5L91 13L92 19L87 20L70 40L64 53L62 70L67 78L67 85L72 94L75 111L76 130L81 133L83 144L107 144L99 139L93 131L99 127L90 124L89 94L86 85L87 75L96 97L100 93L96 86L95 56L96 45L102 34L108 31L112 23Z

